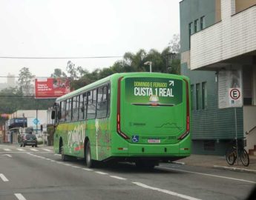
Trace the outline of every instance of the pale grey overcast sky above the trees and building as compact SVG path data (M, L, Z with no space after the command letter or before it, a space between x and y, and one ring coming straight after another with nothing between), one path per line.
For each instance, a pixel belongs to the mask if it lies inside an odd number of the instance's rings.
M180 0L1 0L0 57L123 56L162 51L180 33ZM122 58L120 58L122 59ZM0 59L0 76L29 67L37 77L65 70L68 60L88 70L118 59ZM0 78L6 82L6 78Z

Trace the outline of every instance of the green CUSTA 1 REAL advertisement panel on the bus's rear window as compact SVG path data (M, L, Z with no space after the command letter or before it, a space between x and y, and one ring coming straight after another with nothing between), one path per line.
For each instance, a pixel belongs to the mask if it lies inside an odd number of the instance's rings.
M174 106L183 101L183 81L179 79L125 79L126 101L131 104Z

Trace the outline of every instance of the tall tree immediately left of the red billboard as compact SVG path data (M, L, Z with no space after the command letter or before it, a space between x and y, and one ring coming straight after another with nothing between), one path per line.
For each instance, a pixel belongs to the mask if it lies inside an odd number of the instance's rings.
M23 67L22 70L19 70L19 89L24 93L24 95L33 94L33 85L31 84L33 79L35 78L30 70L27 67Z

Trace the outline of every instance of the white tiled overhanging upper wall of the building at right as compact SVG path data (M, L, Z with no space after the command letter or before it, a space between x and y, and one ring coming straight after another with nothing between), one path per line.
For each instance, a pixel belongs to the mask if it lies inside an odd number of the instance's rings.
M222 21L191 36L192 70L256 50L256 6L234 13L234 1L222 0Z

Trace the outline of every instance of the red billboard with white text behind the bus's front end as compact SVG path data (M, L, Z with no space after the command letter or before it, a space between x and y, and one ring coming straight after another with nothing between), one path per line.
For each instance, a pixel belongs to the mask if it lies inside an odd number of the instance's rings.
M70 92L68 78L35 79L36 99L49 99L63 96Z

